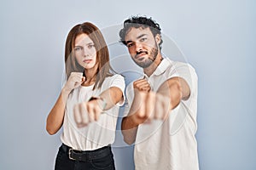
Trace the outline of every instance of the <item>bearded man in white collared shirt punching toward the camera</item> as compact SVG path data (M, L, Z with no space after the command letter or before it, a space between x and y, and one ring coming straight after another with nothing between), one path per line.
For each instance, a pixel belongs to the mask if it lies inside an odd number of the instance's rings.
M137 170L197 170L197 76L191 65L160 53L160 26L147 17L125 20L119 31L144 77L126 88L122 121L127 144L135 144Z

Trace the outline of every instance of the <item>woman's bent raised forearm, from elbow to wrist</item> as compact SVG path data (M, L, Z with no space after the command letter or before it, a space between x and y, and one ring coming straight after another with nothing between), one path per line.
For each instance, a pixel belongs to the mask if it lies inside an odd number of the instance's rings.
M54 107L49 112L46 130L51 135L57 133L62 126L68 94L67 90L62 89Z

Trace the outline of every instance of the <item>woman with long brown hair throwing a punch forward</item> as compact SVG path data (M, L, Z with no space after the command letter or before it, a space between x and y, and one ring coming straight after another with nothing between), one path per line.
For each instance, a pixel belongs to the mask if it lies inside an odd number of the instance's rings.
M47 117L49 134L63 127L55 169L114 168L113 144L124 77L109 65L101 31L89 22L74 26L65 49L67 82Z

